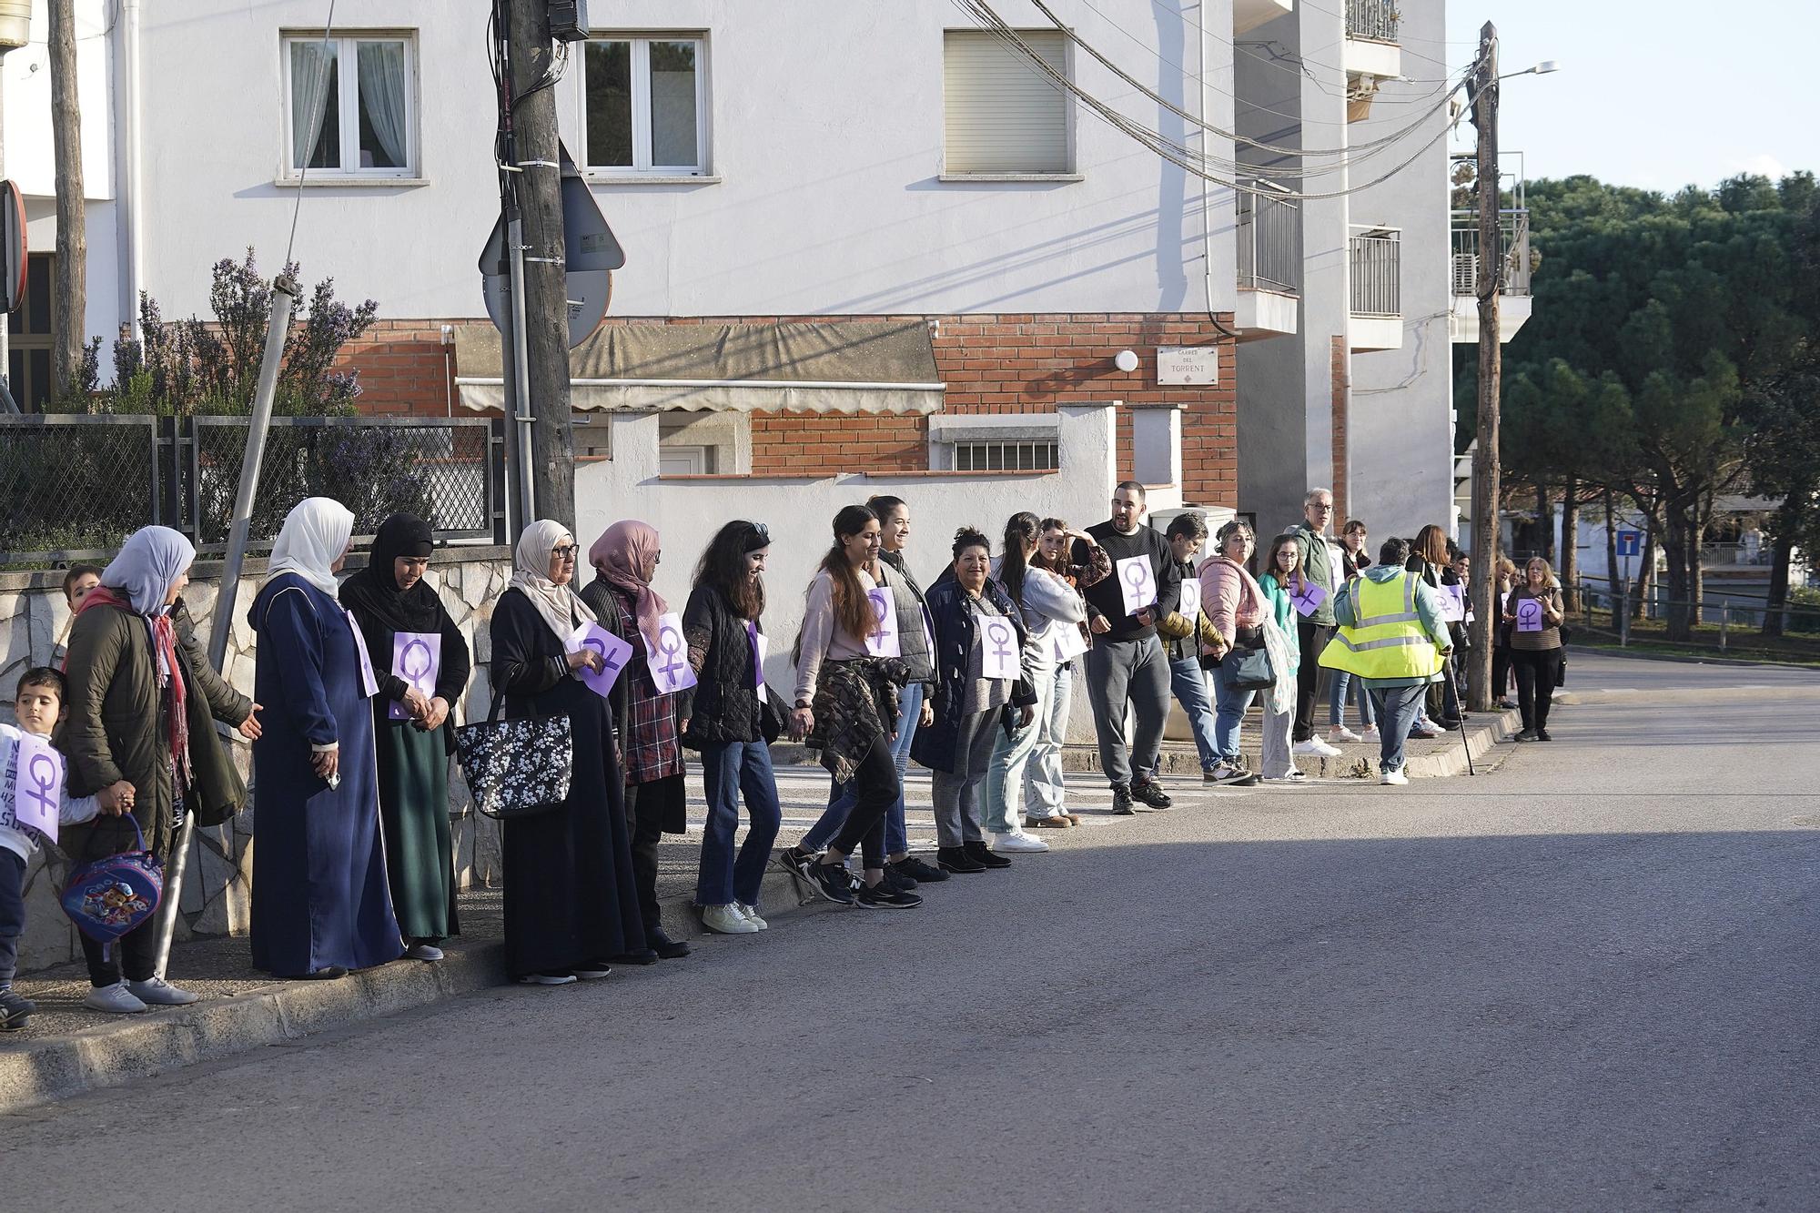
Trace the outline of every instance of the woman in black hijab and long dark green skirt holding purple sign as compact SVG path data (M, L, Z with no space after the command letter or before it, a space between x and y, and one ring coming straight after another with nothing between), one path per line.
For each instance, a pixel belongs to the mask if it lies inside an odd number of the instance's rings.
M468 641L424 581L430 525L393 514L373 537L366 568L340 586L366 639L379 694L373 749L386 876L408 956L442 960L455 922L455 856L450 843L450 707L468 685Z

